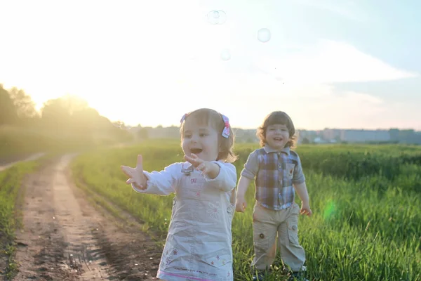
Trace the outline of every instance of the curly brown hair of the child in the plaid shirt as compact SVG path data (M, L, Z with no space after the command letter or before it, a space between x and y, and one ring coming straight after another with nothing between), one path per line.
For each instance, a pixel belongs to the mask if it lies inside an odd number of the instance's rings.
M258 136L260 140L260 146L263 147L266 145L266 129L268 126L274 124L282 124L288 128L290 139L288 143L286 143L285 147L295 148L296 136L293 120L291 120L291 118L283 111L274 111L267 115L263 120L262 126L260 126L256 132L256 136Z

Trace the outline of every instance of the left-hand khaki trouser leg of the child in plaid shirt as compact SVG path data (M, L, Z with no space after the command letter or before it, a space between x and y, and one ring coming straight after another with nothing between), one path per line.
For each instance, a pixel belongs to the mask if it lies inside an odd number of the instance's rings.
M276 232L278 225L274 220L276 211L265 209L257 202L253 212L253 244L255 257L251 266L257 270L269 269L276 255Z

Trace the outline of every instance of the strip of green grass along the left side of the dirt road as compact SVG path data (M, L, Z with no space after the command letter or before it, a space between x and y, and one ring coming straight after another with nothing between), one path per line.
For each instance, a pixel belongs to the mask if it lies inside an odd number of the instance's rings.
M11 279L17 270L13 260L15 247L15 231L20 228L22 218L19 205L22 203L22 181L25 175L39 166L39 162L23 162L5 171L0 171L0 257L6 258L6 268L0 268Z

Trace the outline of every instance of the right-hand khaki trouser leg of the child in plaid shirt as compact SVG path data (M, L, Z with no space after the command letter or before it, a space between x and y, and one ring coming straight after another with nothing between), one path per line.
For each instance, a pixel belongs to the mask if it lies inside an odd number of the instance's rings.
M293 272L299 272L305 263L305 251L298 242L298 214L300 207L293 204L285 210L285 220L278 228L281 259Z

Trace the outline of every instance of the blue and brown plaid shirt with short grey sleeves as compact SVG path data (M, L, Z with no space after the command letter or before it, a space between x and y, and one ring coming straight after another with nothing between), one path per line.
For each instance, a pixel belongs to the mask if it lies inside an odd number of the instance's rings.
M262 207L281 210L293 204L293 183L304 183L300 157L297 152L281 151L265 146L250 153L241 176L255 179L255 198Z

